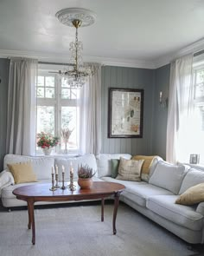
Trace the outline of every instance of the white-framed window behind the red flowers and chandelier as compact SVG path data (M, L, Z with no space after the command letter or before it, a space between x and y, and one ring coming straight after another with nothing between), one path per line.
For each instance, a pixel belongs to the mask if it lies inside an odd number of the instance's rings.
M43 131L61 138L61 129L69 128L72 133L67 149L69 152L76 152L79 149L79 131L77 128L79 127L80 113L77 100L80 96L80 90L70 88L65 79L61 78L61 75L40 70L36 95L37 133ZM55 150L58 153L63 153L64 149L65 143L61 138L61 143Z

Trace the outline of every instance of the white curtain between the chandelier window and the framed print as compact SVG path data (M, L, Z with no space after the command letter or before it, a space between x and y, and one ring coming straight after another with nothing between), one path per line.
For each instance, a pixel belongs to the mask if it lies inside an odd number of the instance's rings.
M99 154L101 148L101 66L92 64L93 75L80 90L80 153Z

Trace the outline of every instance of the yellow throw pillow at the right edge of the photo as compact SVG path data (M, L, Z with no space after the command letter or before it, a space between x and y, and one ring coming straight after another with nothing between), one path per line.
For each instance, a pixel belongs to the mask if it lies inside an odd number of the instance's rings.
M180 205L194 205L204 201L204 183L189 187L183 194L175 200L176 204Z

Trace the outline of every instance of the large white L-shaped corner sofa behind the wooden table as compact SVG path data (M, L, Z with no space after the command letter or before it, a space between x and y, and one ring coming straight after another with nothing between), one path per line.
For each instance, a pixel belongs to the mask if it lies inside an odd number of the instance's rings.
M193 206L175 204L175 200L196 184L204 182L204 172L189 166L172 166L156 158L150 167L149 181L120 181L111 177L111 159L120 157L131 159L131 154L87 154L74 158L29 157L7 154L4 158L3 172L0 174L0 188L4 207L24 206L25 202L16 200L12 194L14 188L28 185L14 183L13 177L6 170L8 163L32 161L39 182L50 182L51 167L57 164L61 173L61 165L66 169L73 163L76 170L78 164L87 163L97 174L95 181L112 181L124 184L125 190L120 200L136 209L139 213L154 220L157 224L175 233L188 243L204 243L204 202ZM76 177L76 173L75 173ZM38 204L45 202L38 202Z

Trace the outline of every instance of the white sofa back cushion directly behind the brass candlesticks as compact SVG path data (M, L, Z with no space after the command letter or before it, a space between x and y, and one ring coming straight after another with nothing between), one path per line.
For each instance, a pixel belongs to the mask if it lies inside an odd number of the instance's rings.
M69 158L55 158L55 165L58 167L59 171L59 179L61 181L62 178L62 165L65 167L65 180L69 181L70 178L70 166L73 166L73 178L78 178L78 167L82 165L88 165L92 168L93 172L96 172L94 175L95 177L98 177L97 172L97 164L96 164L96 158L94 154L84 154L77 157L69 157Z

